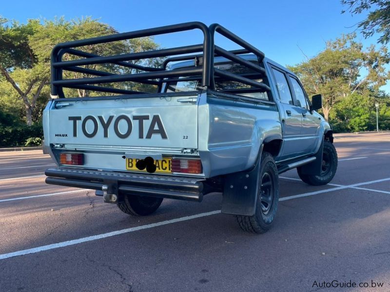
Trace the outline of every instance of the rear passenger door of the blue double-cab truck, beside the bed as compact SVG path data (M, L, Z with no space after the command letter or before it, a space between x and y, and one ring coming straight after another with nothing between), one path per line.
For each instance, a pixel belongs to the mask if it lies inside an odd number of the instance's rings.
M294 105L286 74L275 67L272 67L272 71L281 104L280 110L283 110L281 116L284 143L280 159L285 160L303 152L300 142L302 109Z

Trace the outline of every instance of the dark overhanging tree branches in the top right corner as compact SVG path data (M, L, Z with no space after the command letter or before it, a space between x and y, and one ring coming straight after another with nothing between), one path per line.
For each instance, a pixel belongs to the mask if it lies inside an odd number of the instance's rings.
M353 14L360 14L370 10L371 6L376 9L369 12L365 20L360 21L357 26L362 30L365 38L371 37L374 33L381 34L379 43L387 44L390 41L390 1L389 0L341 0L341 4L348 6ZM343 10L341 13L345 13Z

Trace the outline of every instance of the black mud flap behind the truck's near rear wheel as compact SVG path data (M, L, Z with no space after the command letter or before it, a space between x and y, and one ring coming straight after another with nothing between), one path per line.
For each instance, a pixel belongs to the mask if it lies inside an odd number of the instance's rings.
M259 188L260 149L256 165L250 170L240 171L225 176L222 197L222 213L252 216L256 211Z

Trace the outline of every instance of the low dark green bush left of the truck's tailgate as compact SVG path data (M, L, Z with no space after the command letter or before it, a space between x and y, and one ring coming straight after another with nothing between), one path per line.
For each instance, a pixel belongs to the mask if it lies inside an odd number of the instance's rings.
M38 140L40 139L40 140ZM40 145L43 139L42 125L0 126L0 147Z

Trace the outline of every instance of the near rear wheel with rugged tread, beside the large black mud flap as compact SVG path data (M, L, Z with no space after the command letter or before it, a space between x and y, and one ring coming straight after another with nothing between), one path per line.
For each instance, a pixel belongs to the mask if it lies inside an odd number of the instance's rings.
M241 229L252 233L265 233L270 229L279 202L278 172L275 161L268 152L263 152L261 156L259 184L254 215L236 216Z

